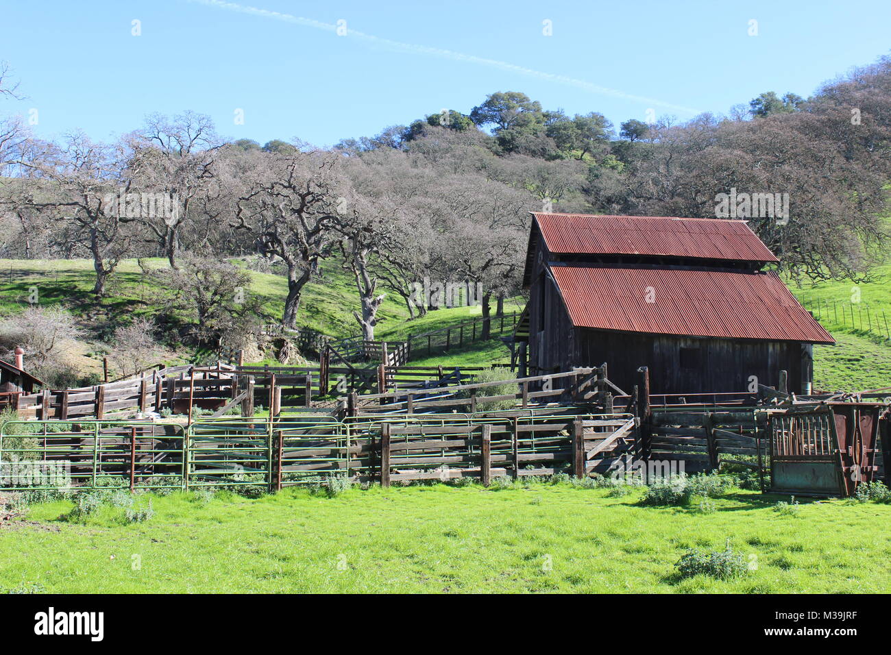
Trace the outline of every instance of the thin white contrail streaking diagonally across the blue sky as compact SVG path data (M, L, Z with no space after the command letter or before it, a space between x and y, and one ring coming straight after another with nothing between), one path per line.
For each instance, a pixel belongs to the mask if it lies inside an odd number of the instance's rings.
M188 0L188 2L206 4L208 6L217 7L217 9L225 9L230 12L249 13L251 15L261 16L263 18L282 20L283 22L294 23L296 25L302 25L307 28L324 29L329 32L336 32L338 29L337 25L325 23L321 20L313 20L310 18L303 18L301 16L294 16L290 13L272 12L268 9L259 9L258 7L252 7L246 4L224 2L224 0ZM404 43L402 41L394 41L389 38L381 38L375 37L372 34L365 34L364 32L359 32L356 29L347 29L347 37L361 39L374 45L382 45L402 52L428 54L430 56L439 57L441 59L465 61L467 63L478 64L480 66L488 66L489 68L506 70L512 73L518 73L519 75L525 75L529 78L545 79L566 86L575 86L576 88L590 91L593 94L609 95L614 98L622 98L624 100L642 102L643 104L647 104L650 106L663 107L665 109L674 111L683 111L684 113L694 115L699 113L698 110L691 109L690 107L684 107L683 105L672 104L671 102L664 102L661 100L657 100L656 98L648 98L645 95L627 94L625 93L625 91L611 89L607 86L598 86L596 84L592 84L591 82L586 82L584 79L568 78L565 75L555 75L554 73L546 73L542 70L527 69L523 66L517 66L516 64L509 63L508 61L486 59L485 57L478 57L474 54L458 53L454 50L433 48L429 47L428 45L416 45Z

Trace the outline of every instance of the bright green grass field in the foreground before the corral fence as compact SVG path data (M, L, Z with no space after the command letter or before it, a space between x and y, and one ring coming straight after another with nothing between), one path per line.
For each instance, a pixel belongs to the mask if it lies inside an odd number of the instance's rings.
M0 588L50 593L576 592L887 593L891 505L804 502L737 491L694 507L643 507L641 492L534 484L500 491L446 485L333 498L302 490L196 504L155 497L155 515L121 524L99 512L0 529ZM756 570L733 581L679 579L691 548L727 539ZM139 566L136 567L135 563ZM547 566L550 563L551 567Z

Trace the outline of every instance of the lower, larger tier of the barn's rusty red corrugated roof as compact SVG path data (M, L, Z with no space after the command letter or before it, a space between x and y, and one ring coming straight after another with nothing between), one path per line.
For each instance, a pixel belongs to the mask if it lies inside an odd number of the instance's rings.
M576 327L835 343L774 273L600 266L551 271Z

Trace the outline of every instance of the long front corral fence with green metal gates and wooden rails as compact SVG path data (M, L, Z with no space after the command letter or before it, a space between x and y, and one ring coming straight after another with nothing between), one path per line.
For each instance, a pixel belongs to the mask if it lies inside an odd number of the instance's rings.
M194 488L254 486L276 490L333 477L391 483L422 479L520 478L565 472L607 473L636 454L638 421L628 414L540 412L363 417L93 422L55 431L59 422L12 422L0 431L0 463L56 466L78 487ZM37 430L35 430L37 429ZM18 430L27 436L22 438ZM6 488L16 471L0 471ZM58 471L57 471L58 472ZM39 480L38 480L39 482Z

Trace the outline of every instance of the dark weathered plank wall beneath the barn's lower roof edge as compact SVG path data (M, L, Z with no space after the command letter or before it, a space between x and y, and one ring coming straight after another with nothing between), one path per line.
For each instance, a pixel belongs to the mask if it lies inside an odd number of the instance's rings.
M565 365L609 364L609 379L630 393L639 366L650 369L654 393L746 391L750 377L776 387L789 372L789 390L801 393L801 344L732 340L574 328Z

